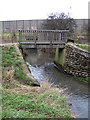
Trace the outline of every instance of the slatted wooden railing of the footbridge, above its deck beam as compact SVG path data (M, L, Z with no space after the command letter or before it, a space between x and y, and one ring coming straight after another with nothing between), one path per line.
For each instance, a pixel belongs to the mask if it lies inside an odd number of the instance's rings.
M43 34L44 33L44 34ZM53 42L67 42L67 34L69 30L19 30L19 42L34 42L35 45L38 42L50 42L52 45Z

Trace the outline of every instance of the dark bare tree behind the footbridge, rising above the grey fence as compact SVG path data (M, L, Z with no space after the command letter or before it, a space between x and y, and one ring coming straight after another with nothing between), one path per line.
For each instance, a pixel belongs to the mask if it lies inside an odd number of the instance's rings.
M65 13L51 13L45 23L42 24L43 29L52 30L69 30L74 32L76 27L75 20Z

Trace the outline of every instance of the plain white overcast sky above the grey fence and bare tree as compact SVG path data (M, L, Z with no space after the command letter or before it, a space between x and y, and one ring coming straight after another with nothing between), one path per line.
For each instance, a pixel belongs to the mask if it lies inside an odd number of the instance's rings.
M64 12L74 19L88 19L90 0L0 0L0 21L46 19Z

